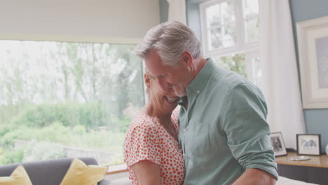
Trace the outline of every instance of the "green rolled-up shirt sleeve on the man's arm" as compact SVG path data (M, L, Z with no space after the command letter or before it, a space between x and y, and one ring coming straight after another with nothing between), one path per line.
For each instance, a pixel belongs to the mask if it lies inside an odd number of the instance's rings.
M261 169L278 179L261 91L254 85L241 83L232 89L226 101L224 132L234 158L244 169Z

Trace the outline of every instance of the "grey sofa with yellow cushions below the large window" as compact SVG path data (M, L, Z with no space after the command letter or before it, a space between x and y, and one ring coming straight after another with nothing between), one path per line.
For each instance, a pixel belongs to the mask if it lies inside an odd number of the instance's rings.
M95 158L79 158L86 165L97 165ZM31 179L33 185L59 185L73 158L62 158L55 160L41 160L29 163L15 163L11 165L0 166L0 177L10 176L13 170L18 165L23 165L29 179ZM98 185L109 185L109 181L102 180Z

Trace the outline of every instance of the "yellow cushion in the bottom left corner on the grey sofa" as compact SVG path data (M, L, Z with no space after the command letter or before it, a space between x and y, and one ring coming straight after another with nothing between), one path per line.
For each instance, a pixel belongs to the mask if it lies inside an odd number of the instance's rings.
M29 174L25 171L22 165L16 167L11 173L11 177L0 177L1 185L32 185L32 181L29 179Z

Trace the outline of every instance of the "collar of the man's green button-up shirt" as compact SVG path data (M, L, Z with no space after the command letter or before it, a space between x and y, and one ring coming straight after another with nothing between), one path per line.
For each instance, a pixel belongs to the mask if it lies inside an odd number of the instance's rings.
M203 88L214 71L213 60L211 58L207 58L206 60L206 64L200 69L193 81L188 85L187 91L192 90L193 93L196 93L197 95L202 93Z

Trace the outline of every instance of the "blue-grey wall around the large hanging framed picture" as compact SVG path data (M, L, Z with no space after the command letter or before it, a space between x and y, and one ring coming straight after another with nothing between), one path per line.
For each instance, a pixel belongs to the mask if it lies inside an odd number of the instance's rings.
M328 1L289 0L289 3L292 11L295 47L297 48L296 22L327 16ZM296 54L298 56L298 50L296 50ZM303 112L306 132L308 134L321 134L321 148L324 152L324 148L328 144L328 109L304 109Z

